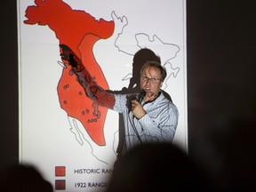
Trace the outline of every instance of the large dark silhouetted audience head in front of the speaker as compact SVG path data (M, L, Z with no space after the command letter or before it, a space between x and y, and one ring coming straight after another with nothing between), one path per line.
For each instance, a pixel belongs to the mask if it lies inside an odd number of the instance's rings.
M107 192L209 191L208 180L180 148L148 143L132 148L114 167Z

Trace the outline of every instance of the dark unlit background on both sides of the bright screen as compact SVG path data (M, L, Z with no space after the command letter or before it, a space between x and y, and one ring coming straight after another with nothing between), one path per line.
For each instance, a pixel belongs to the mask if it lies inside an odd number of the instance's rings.
M187 1L188 155L224 191L246 191L256 183L254 2ZM0 14L4 167L19 162L16 1L5 1Z

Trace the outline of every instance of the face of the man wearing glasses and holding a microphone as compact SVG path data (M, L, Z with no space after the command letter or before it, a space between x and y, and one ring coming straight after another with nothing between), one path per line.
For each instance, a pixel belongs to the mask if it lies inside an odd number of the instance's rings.
M145 90L147 95L157 95L163 82L160 79L160 69L146 67L140 76L140 88Z

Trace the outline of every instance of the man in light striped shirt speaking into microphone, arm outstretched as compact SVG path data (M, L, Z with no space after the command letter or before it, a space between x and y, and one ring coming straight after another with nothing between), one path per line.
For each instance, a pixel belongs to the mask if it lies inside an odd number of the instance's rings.
M179 118L177 107L168 100L161 87L166 69L156 61L146 61L140 69L140 92L107 92L94 81L82 60L65 44L60 44L61 59L77 76L86 96L96 104L122 113L124 117L123 153L148 142L172 142Z

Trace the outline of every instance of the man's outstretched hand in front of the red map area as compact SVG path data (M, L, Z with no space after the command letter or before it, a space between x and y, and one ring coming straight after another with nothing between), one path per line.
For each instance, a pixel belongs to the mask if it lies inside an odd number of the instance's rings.
M82 71L84 69L84 65L82 60L80 60L76 53L73 52L66 44L60 44L61 53L60 57L61 60L67 60L68 65L72 66L76 70L76 72Z

